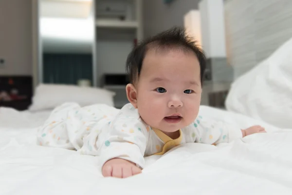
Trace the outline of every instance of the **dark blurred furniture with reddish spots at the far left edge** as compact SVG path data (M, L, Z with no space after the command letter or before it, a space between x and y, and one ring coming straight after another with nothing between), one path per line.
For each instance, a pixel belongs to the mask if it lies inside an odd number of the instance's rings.
M25 110L32 103L32 76L0 76L0 107Z

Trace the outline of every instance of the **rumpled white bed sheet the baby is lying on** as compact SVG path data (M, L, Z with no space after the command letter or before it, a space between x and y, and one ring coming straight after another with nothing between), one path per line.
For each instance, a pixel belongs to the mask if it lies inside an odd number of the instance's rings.
M207 106L200 112L269 133L217 147L185 144L117 179L102 177L98 157L37 146L34 128L0 128L0 195L292 195L292 130Z

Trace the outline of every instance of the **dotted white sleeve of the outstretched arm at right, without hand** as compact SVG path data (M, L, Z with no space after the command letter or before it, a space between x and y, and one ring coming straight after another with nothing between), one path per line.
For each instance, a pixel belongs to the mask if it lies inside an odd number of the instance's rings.
M241 129L228 123L209 120L199 116L187 128L192 142L217 145L242 138Z

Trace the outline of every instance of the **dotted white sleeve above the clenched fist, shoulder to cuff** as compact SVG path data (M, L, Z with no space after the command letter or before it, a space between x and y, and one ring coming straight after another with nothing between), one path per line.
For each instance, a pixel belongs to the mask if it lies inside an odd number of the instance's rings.
M139 118L138 111L131 105L126 105L108 125L107 134L101 144L99 160L101 167L113 158L129 160L144 167L149 128Z

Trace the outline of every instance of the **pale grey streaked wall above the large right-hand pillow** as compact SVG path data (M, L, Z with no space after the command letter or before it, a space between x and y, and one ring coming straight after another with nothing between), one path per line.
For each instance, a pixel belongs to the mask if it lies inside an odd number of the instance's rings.
M227 56L237 78L292 37L292 0L225 0Z

